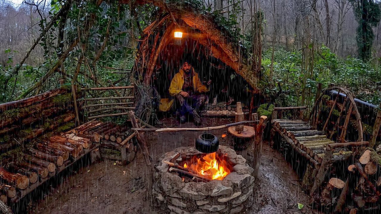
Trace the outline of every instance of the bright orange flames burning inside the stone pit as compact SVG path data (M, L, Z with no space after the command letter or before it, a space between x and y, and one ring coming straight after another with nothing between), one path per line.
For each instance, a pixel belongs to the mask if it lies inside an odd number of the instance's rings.
M189 166L184 163L184 168L189 168L197 174L213 180L222 180L230 173L229 163L222 158L222 155L216 155L216 152L206 154L201 158L195 156Z

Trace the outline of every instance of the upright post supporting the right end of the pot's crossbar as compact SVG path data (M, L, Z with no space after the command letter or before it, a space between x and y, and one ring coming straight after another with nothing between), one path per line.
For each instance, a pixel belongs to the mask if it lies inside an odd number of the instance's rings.
M259 166L261 165L261 155L262 155L262 141L263 141L263 130L266 128L267 117L261 116L259 123L256 126L256 133L254 137L254 144L252 145L253 152L253 176L255 179L258 178Z

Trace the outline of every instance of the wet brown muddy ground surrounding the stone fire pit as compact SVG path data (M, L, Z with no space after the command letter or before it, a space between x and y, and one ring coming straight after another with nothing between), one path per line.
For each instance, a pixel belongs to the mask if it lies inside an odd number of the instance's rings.
M203 119L203 126L226 124L227 119ZM193 127L192 123L179 125L173 118L163 120L164 127ZM213 132L212 132L213 133ZM216 133L215 134L222 134ZM158 160L165 152L179 146L193 146L200 133L146 134L150 153ZM265 143L266 144L266 143ZM32 200L25 201L16 211L38 214L162 214L149 206L146 165L139 152L133 163L120 166L115 161L103 160L95 164L78 163L39 191ZM116 165L115 165L116 164ZM300 191L301 182L296 172L282 155L266 144L263 147L259 179L253 194L254 203L246 214L317 213L308 204L308 196ZM45 189L43 192L41 189ZM46 189L48 191L46 191ZM25 204L27 205L25 206ZM299 210L296 203L304 204Z

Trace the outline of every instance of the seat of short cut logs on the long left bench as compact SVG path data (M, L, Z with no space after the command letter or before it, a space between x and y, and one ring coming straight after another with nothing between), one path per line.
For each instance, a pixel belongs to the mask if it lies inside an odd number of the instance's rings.
M16 190L37 187L89 152L92 144L90 139L62 133L6 153L0 168L2 200L13 200Z

